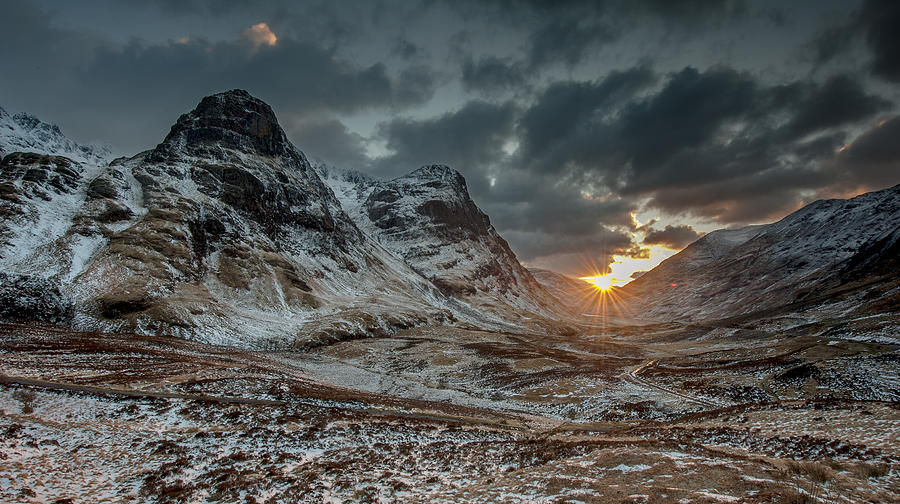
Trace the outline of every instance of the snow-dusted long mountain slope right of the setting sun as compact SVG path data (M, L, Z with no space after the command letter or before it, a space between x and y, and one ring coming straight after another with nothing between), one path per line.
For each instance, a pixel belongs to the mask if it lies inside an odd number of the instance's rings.
M734 317L791 305L888 268L900 186L811 203L773 224L709 233L621 289L648 319ZM881 252L879 252L881 251Z

